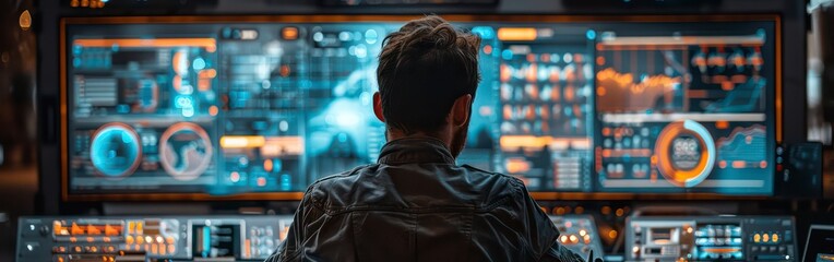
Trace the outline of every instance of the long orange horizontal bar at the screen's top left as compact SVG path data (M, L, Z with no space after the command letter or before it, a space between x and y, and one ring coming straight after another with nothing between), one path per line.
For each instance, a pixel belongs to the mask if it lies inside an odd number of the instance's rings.
M81 47L114 47L120 48L142 48L142 47L202 47L208 52L217 50L217 43L214 38L117 38L117 39L75 39L75 46Z

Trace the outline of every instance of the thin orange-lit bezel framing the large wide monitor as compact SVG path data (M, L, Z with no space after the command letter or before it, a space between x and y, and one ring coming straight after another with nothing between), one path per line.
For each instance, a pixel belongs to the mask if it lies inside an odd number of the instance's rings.
M61 200L65 202L97 201L300 201L303 192L248 192L230 195L208 193L69 193L69 148L68 140L68 68L67 68L67 25L83 24L184 24L184 23L339 23L339 22L405 22L424 15L379 15L379 14L314 14L314 15L228 15L228 16L102 16L102 17L61 17L60 19L60 176ZM772 22L775 29L775 142L783 139L783 71L782 71L782 16L778 14L738 14L738 15L534 15L534 14L444 14L451 22ZM773 174L775 179L775 174ZM540 201L551 200L764 200L771 194L730 195L718 193L631 193L631 192L552 192L534 191L531 195Z

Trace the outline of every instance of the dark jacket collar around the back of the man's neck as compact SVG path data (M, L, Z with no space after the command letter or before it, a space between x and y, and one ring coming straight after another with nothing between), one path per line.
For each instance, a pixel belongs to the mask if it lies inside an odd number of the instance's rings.
M379 164L409 163L454 164L454 157L442 141L434 138L403 138L388 142L380 152Z

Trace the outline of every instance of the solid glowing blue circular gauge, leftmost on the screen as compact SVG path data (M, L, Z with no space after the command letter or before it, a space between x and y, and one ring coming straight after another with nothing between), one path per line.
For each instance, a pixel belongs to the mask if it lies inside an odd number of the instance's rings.
M108 178L130 176L139 167L142 146L128 124L107 123L93 133L90 160L97 174Z

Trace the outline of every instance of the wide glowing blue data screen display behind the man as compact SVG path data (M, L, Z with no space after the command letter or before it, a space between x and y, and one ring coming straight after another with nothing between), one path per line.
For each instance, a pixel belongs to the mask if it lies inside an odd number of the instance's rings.
M401 25L70 21L64 190L303 192L374 163ZM775 23L456 25L482 39L460 164L532 191L773 192Z

